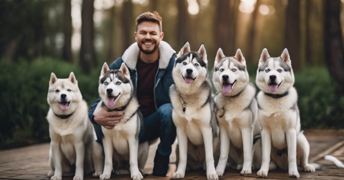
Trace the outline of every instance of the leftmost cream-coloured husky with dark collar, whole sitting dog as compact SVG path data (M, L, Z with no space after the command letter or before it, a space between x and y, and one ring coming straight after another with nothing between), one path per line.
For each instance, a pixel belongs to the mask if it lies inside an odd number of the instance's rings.
M78 88L74 73L68 79L57 79L51 73L48 92L50 109L47 115L51 138L48 176L62 179L62 174L73 173L73 180L82 180L92 171L93 125L87 116L87 103Z

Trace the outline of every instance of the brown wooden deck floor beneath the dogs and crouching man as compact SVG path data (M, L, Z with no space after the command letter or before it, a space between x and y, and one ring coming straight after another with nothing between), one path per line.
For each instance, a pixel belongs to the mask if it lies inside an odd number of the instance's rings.
M313 130L306 131L305 135L311 146L310 161L322 164L322 169L313 173L300 172L300 179L323 179L323 180L344 180L344 169L336 168L326 160L323 156L330 154L344 162L344 130ZM8 149L0 151L0 179L49 179L46 174L48 168L49 143L36 144L21 148ZM156 177L146 175L144 179L170 179L176 169L175 162L175 144L170 157L170 169L167 177ZM148 161L145 171L152 173L154 153L157 143L152 145L149 150ZM260 179L256 176L257 171L252 171L251 176L240 176L240 171L227 170L220 179L237 179L251 180ZM185 179L206 179L206 173L202 171L186 172ZM72 180L73 177L63 177L65 180ZM88 179L92 176L84 177ZM126 179L129 176L112 176L111 179ZM268 178L265 179L292 179L288 177L286 171L269 171Z

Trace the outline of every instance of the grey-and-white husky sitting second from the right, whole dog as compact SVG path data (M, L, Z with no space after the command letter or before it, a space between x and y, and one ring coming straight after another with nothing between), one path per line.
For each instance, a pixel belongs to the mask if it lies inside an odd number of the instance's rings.
M219 48L214 69L213 82L218 91L215 97L216 118L221 139L216 173L223 175L231 148L230 156L235 165L242 166L240 173L250 175L251 167L258 169L261 166L261 128L257 120L256 88L249 83L246 61L240 49L234 57L225 57Z

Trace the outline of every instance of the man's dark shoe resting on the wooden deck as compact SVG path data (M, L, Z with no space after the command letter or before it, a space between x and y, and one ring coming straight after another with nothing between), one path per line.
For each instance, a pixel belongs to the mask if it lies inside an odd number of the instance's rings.
M154 157L153 175L166 176L167 170L169 169L169 163L170 155L163 156L157 150Z

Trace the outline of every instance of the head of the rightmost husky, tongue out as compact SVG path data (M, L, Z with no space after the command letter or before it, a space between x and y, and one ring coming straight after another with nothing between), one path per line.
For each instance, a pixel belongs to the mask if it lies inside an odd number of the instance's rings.
M283 94L293 86L294 81L288 50L284 49L280 57L272 58L268 50L263 49L256 77L259 89L265 93Z

